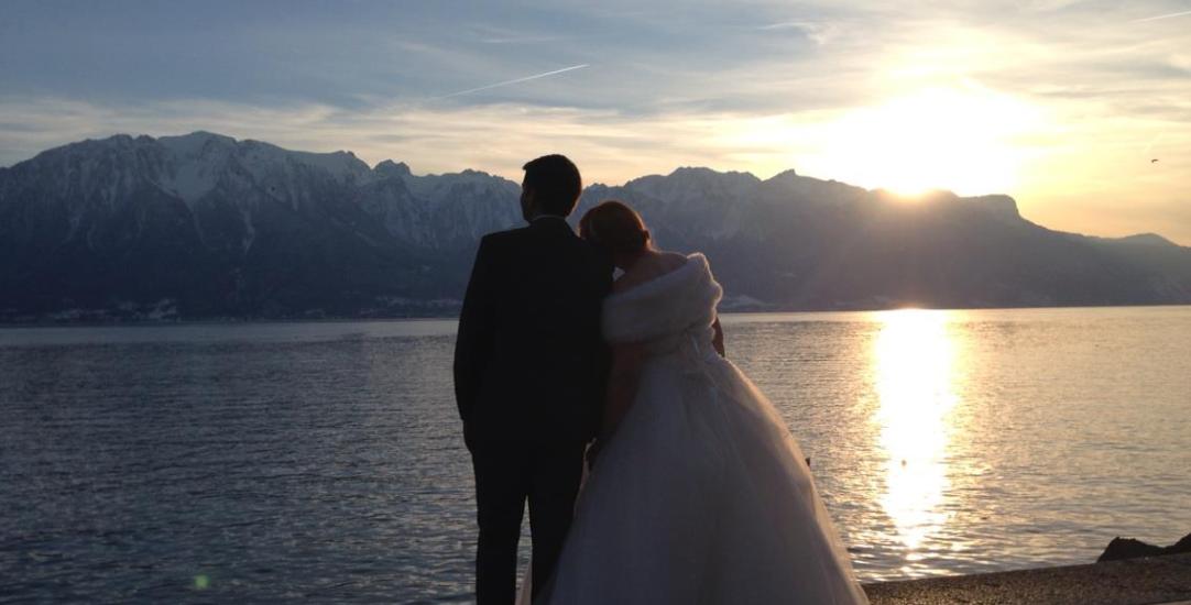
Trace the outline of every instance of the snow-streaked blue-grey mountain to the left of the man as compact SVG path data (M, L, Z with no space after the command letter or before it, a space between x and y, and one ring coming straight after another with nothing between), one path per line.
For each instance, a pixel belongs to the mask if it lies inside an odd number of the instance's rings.
M207 132L74 143L0 169L0 314L435 311L518 193Z

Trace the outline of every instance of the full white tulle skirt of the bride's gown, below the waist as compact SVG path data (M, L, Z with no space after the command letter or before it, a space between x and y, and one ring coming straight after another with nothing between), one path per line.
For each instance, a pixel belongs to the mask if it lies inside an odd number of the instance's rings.
M537 601L867 599L773 405L732 363L680 350L647 362Z

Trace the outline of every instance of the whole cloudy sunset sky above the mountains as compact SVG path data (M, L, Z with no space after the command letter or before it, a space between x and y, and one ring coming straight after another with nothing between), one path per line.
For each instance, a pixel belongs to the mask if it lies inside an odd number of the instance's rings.
M195 130L414 173L794 169L1191 245L1191 0L5 0L0 166ZM1156 160L1156 162L1154 161Z

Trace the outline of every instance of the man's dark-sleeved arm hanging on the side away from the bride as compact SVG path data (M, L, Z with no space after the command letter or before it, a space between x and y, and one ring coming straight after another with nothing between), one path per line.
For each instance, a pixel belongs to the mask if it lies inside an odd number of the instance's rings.
M492 248L487 236L480 241L475 264L472 266L472 277L463 295L459 335L455 339L455 403L463 420L464 439L468 437L468 420L475 410L484 368L492 354L492 295L495 286Z

